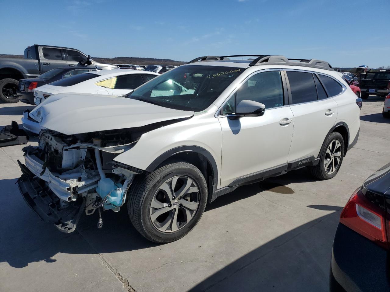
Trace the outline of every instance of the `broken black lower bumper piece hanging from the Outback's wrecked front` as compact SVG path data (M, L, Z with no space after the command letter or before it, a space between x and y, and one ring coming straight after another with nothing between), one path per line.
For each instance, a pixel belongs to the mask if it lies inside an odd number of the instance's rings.
M60 199L50 188L42 185L24 164L18 160L22 176L18 179L18 187L27 205L44 222L54 223L58 230L65 233L73 232L85 207L85 201L80 198L68 206L59 209Z

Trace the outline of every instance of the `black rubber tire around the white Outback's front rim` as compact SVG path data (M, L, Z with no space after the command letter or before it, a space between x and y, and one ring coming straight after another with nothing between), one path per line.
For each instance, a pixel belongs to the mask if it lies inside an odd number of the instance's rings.
M176 231L162 232L152 222L150 209L152 200L160 186L175 176L191 178L199 190L198 207L190 221ZM190 232L199 222L207 203L207 184L202 172L187 162L172 162L162 165L149 175L136 178L129 194L128 213L131 223L142 236L155 243L176 241ZM171 212L171 211L169 211ZM179 213L179 211L177 211ZM178 215L177 215L178 216ZM179 223L180 224L180 223Z

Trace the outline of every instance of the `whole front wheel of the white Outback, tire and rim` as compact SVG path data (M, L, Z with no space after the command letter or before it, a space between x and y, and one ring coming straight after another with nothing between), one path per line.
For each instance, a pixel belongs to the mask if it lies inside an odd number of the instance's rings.
M206 179L187 162L166 164L137 178L129 199L129 217L138 232L156 243L172 242L188 234L202 217Z

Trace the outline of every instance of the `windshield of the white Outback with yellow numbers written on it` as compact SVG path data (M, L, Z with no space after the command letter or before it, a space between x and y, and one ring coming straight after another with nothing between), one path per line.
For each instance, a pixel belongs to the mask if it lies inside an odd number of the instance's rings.
M184 111L203 111L245 69L181 66L158 76L129 95L132 99Z

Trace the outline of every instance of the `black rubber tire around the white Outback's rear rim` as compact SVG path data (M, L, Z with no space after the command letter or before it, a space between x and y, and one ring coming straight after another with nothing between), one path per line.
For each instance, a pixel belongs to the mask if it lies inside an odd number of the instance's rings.
M328 150L329 145L335 140L338 140L341 144L340 145L340 148L341 148L340 161L337 164L337 167L335 167L335 171L333 171L331 174L328 174L325 170L325 165L324 165L325 159L327 157L326 151ZM340 166L342 164L342 160L344 158L344 153L345 153L344 148L345 148L344 147L344 139L343 139L342 135L339 132L330 133L328 135L328 137L326 137L324 144L321 147L319 163L315 166L309 167L311 174L314 177L316 177L318 179L323 179L323 180L324 179L331 179L331 178L335 177L337 172L340 169Z

